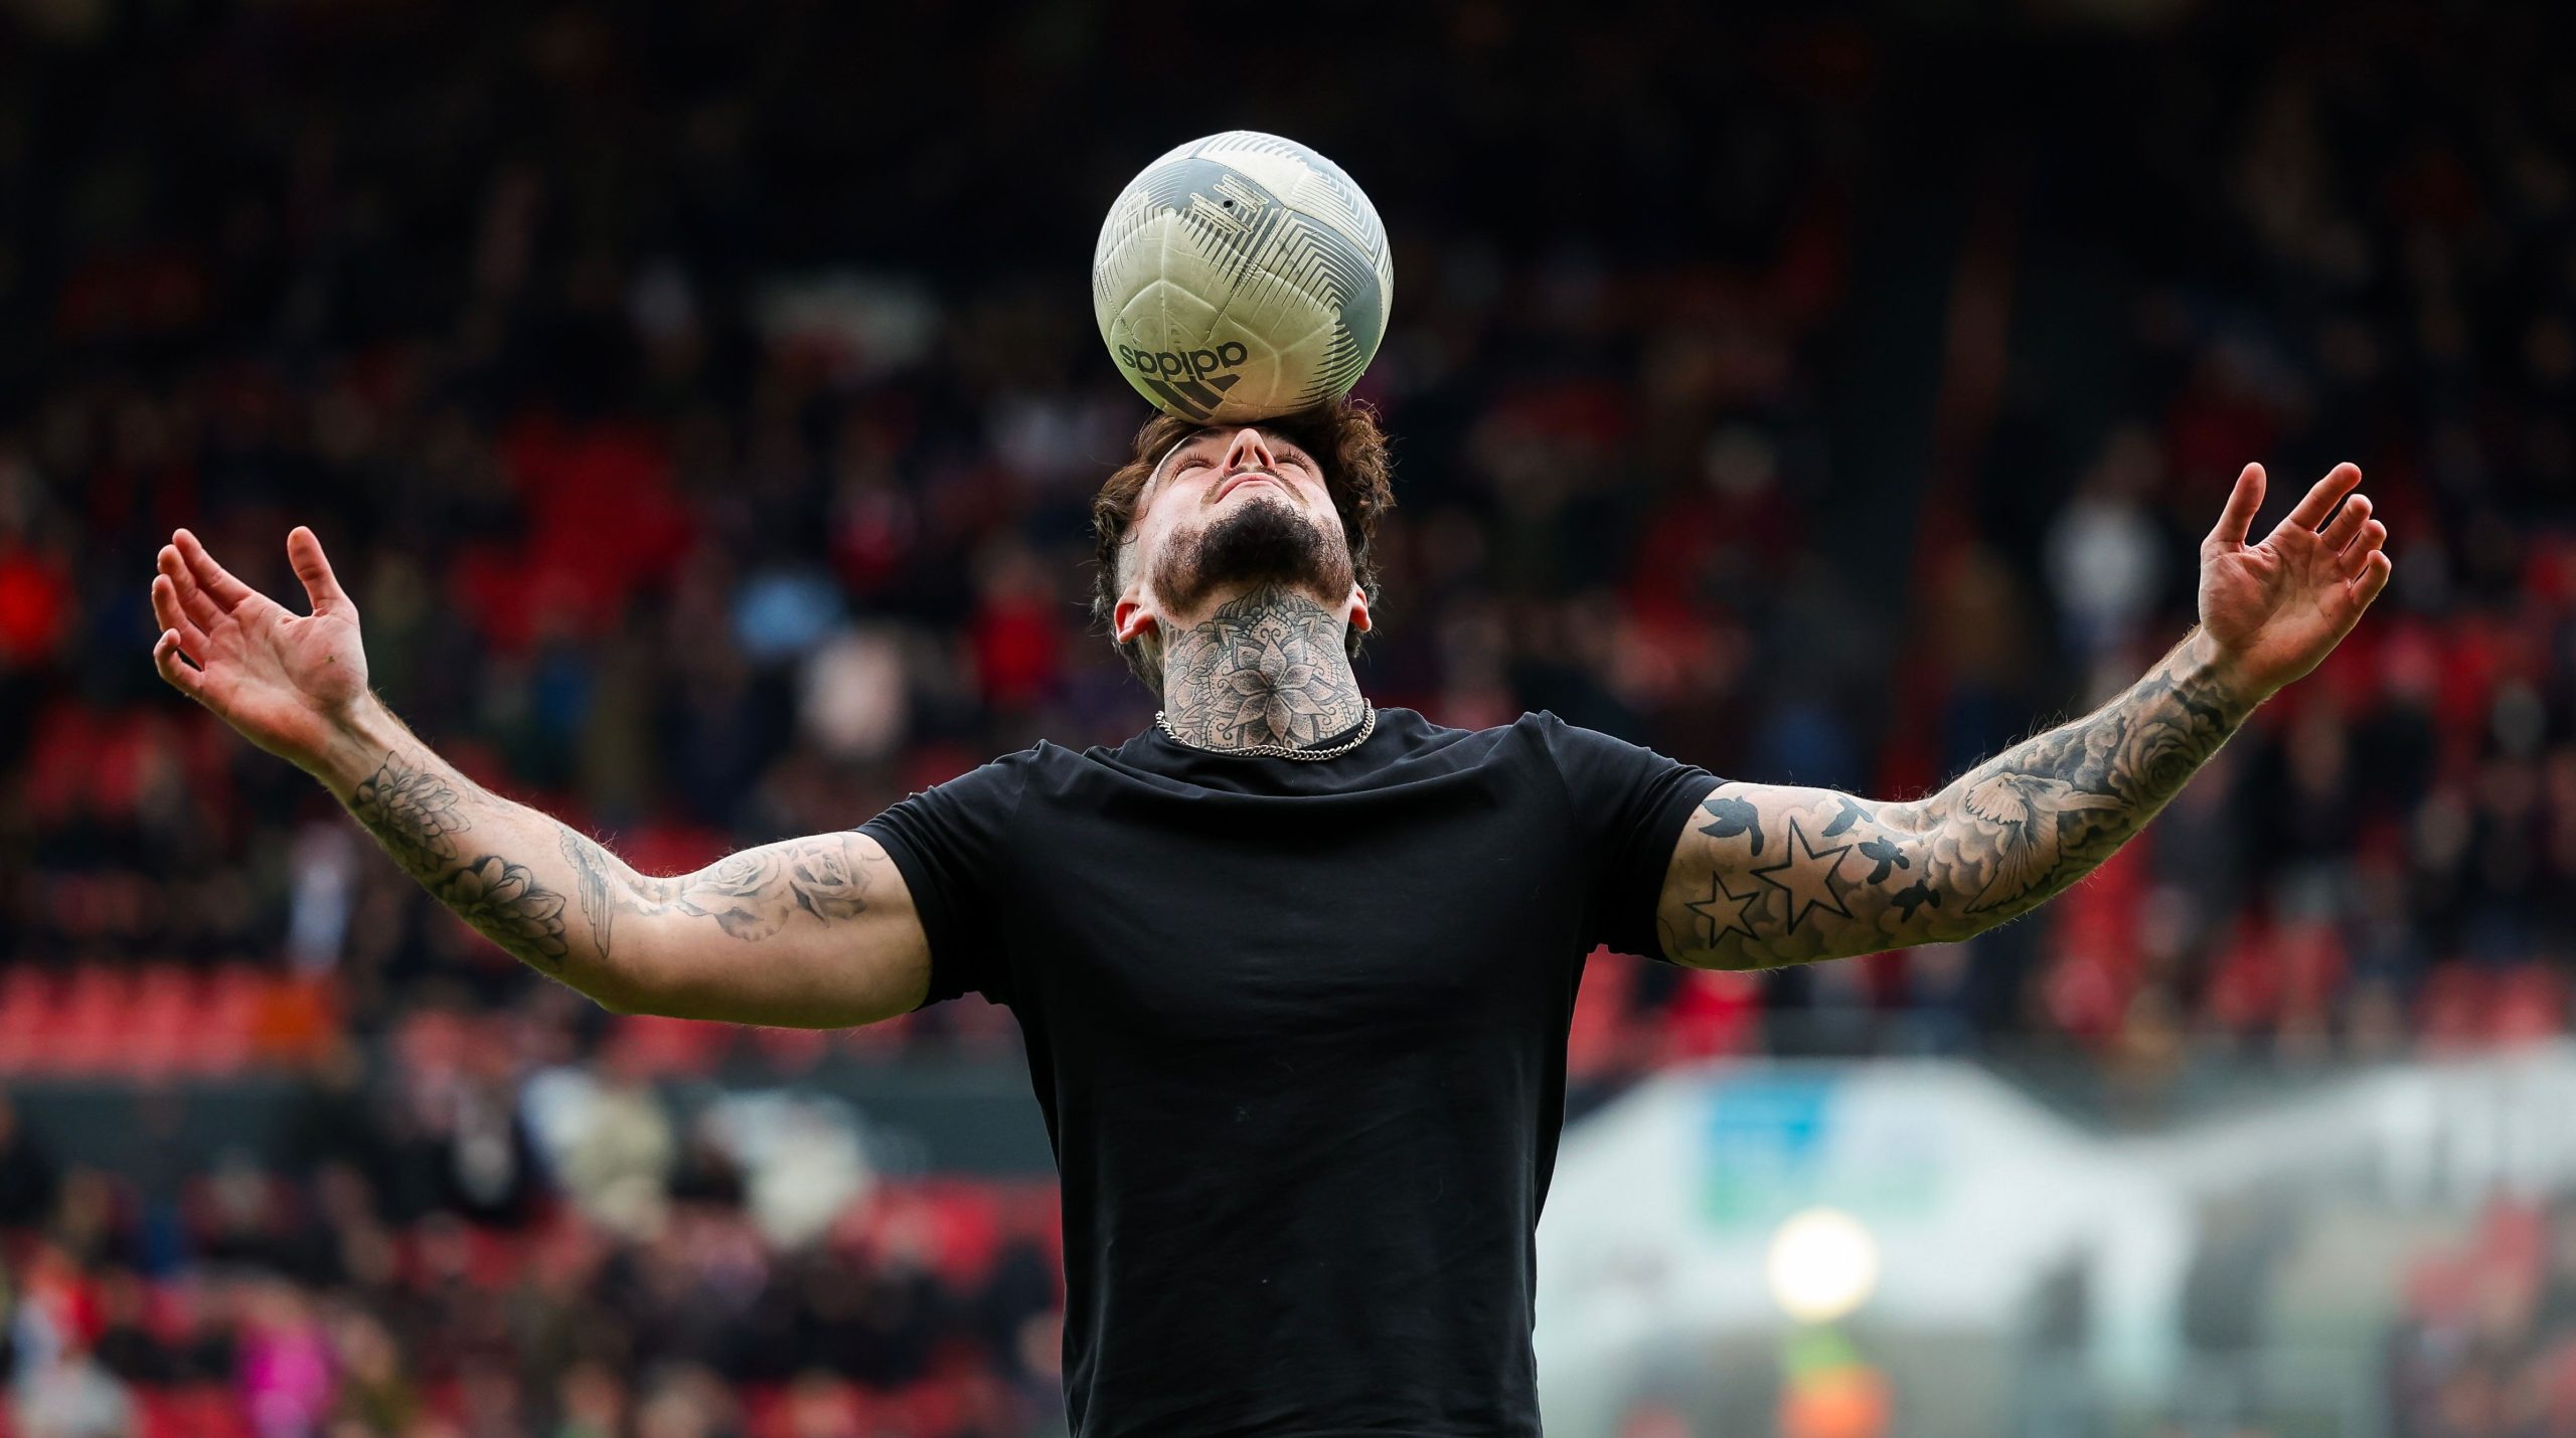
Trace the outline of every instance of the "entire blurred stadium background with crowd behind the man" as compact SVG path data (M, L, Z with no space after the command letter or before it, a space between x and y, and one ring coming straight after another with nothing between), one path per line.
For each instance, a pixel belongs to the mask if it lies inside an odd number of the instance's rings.
M1242 123L1399 244L1378 702L1919 792L2179 633L2241 460L2401 535L2035 918L1592 960L1551 1433L2576 1433L2568 10L1775 10L0 5L0 1430L1061 1430L1005 1011L611 1019L144 581L312 522L392 705L647 869L1128 736L1082 268Z

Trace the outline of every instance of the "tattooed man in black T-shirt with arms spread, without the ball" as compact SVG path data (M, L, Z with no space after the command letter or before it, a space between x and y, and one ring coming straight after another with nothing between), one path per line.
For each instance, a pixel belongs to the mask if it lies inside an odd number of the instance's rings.
M1074 1433L1525 1435L1584 954L1752 970L2030 911L2388 584L2357 481L2336 466L2246 543L2246 466L2200 551L2200 628L1919 800L1718 782L1551 715L1468 733L1370 707L1350 651L1388 466L1345 404L1157 417L1100 491L1097 607L1157 725L696 875L639 875L404 731L312 530L286 538L312 615L180 530L152 659L613 1011L837 1029L1007 1003L1064 1176Z

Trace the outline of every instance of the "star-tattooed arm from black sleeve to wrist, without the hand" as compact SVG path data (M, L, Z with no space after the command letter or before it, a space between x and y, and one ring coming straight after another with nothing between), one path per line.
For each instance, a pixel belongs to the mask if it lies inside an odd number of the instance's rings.
M2040 906L2146 826L2254 702L2184 643L2128 695L1929 800L1721 785L1656 908L1664 954L1770 967L1965 939Z

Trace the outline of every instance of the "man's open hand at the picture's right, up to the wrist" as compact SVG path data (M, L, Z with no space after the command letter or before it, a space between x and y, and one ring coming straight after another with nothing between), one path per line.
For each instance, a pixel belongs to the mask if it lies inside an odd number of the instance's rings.
M2334 466L2262 543L2246 543L2264 494L2262 466L2246 466L2200 545L2200 628L2259 692L2316 669L2388 587L2388 525L2352 494L2357 484L2360 466Z

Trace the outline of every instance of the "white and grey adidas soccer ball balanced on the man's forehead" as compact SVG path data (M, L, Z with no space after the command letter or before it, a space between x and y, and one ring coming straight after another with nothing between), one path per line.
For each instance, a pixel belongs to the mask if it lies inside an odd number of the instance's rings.
M1198 424L1350 394L1386 334L1396 268L1376 206L1293 139L1236 129L1144 167L1092 252L1118 373Z

